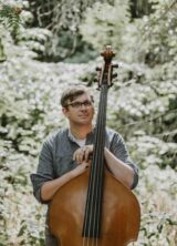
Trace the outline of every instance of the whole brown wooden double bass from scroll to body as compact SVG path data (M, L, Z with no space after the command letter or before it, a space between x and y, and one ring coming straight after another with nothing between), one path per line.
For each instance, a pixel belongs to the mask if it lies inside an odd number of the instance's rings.
M60 246L126 246L138 236L138 201L105 165L105 109L115 65L110 45L102 55L104 64L97 69L100 103L91 167L60 187L50 204L49 226Z

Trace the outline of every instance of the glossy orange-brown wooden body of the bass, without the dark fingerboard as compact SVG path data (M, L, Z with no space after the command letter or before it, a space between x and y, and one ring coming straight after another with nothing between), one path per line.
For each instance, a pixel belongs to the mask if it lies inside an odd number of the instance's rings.
M70 181L50 205L50 228L61 246L125 246L138 236L140 209L135 195L105 171L100 238L82 237L90 171ZM70 193L69 193L70 191Z

